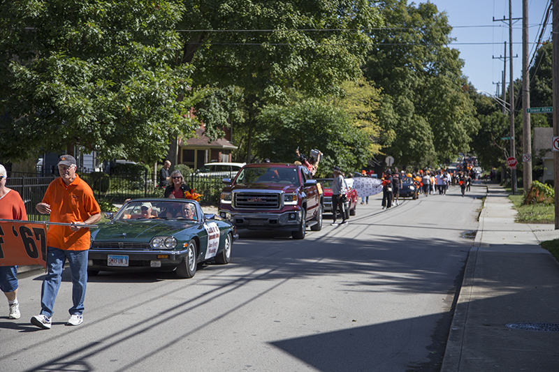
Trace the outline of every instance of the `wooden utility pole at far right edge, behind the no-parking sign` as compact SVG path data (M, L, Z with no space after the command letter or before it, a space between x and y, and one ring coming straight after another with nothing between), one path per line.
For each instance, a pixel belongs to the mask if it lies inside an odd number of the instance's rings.
M553 1L553 137L559 137L559 0ZM552 147L553 148L553 147ZM559 152L553 151L555 229L559 229Z

